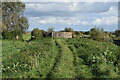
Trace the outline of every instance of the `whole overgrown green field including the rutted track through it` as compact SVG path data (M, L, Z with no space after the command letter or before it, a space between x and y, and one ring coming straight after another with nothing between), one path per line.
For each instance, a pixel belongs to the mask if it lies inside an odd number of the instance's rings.
M2 56L3 78L120 78L118 46L110 42L3 40Z

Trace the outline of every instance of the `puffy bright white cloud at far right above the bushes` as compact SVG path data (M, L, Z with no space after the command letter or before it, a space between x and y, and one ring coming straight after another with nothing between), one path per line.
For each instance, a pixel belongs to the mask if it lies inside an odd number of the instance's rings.
M118 17L101 17L92 22L93 25L114 25L118 24Z

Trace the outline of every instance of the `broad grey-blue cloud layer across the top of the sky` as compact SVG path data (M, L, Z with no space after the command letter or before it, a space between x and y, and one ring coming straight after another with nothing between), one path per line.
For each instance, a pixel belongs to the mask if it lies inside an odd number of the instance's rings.
M115 2L50 2L26 3L25 15L29 16L74 16L82 13L102 13L116 5Z

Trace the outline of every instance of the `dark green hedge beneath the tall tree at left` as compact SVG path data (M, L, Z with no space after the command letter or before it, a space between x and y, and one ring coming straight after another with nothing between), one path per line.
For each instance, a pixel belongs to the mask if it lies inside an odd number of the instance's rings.
M17 36L18 36L18 39L21 40L22 31L20 30L14 30L14 31L3 30L2 31L2 39L15 40Z

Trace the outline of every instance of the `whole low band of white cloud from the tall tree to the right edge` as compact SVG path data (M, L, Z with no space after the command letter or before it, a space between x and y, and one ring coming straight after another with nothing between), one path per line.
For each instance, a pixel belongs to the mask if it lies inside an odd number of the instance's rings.
M54 16L44 16L44 17L31 17L29 20L33 23L39 24L64 24L64 25L114 25L118 24L118 17L101 17L96 18L93 21L81 20L80 17L54 17Z

